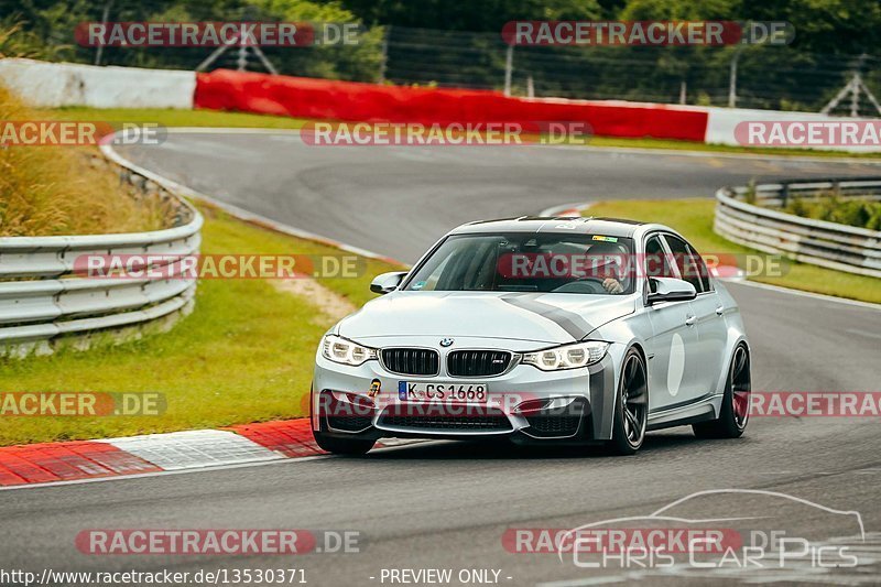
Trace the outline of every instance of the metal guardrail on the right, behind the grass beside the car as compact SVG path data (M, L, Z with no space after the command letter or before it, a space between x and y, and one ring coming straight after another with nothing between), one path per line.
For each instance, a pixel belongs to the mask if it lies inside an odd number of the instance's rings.
M753 192L755 204L744 202ZM791 181L726 187L716 193L714 230L739 244L802 263L881 278L881 232L769 209L791 198L834 194L881 200L881 177Z

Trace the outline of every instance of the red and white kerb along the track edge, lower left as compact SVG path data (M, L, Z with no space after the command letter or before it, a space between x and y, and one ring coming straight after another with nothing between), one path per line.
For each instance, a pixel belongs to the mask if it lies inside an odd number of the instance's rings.
M418 441L388 439L378 447ZM308 418L0 448L0 487L58 483L325 455Z

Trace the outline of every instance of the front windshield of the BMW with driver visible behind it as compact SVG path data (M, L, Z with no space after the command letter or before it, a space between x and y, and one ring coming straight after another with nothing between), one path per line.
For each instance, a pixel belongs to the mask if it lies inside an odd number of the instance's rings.
M632 240L607 235L512 232L448 237L405 291L633 292Z

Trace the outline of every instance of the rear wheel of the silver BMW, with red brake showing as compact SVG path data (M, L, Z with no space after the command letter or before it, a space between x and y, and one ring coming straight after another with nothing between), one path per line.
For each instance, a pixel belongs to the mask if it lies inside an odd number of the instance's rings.
M698 438L739 438L750 418L750 354L746 345L738 345L728 368L728 381L719 417L709 422L693 424L692 430Z

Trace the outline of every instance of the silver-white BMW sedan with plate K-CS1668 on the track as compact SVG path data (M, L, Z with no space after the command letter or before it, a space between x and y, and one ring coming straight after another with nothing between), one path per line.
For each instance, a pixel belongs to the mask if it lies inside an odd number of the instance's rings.
M450 231L316 356L312 428L330 452L383 437L509 438L635 453L646 431L733 438L749 417L740 311L662 225L480 221Z

